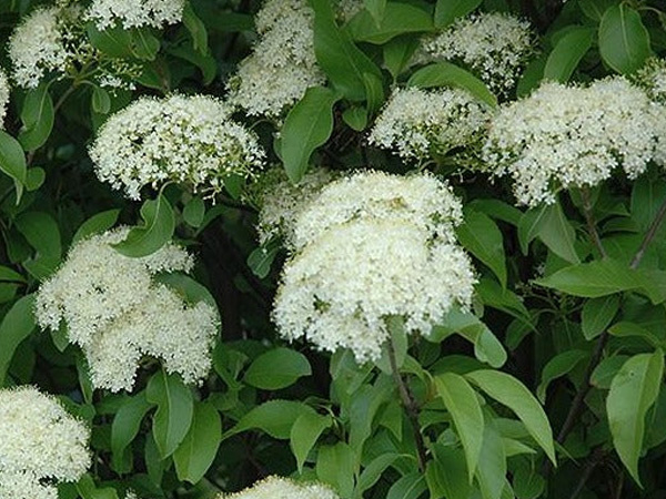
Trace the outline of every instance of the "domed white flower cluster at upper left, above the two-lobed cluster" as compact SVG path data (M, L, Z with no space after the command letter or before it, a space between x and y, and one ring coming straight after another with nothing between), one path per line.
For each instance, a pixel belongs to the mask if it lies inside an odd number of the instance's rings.
M211 195L229 176L252 176L263 151L254 133L208 95L141 98L113 114L90 147L98 177L128 197L165 182Z

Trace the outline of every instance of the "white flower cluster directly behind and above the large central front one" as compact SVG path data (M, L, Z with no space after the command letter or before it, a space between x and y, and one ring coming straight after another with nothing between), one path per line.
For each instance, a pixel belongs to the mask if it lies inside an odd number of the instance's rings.
M451 187L432 175L366 171L331 183L306 205L294 224L293 244L301 249L333 226L359 218L405 220L451 242L462 217Z

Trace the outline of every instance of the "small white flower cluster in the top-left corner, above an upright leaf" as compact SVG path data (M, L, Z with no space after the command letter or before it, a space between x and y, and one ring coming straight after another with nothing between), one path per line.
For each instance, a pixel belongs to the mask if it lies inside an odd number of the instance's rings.
M72 54L64 45L58 7L32 11L14 30L9 40L9 59L14 81L34 88L48 73L64 73Z

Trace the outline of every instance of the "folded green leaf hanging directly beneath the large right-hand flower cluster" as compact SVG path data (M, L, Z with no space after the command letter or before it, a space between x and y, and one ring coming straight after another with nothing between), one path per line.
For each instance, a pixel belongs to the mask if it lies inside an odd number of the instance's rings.
M579 263L575 248L576 232L559 203L525 212L518 224L518 241L524 254L529 242L538 237L553 253L571 263Z

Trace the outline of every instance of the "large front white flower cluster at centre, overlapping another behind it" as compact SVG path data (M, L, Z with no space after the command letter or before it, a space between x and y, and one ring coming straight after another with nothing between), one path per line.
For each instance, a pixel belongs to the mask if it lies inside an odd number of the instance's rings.
M453 306L470 305L474 282L458 246L404 220L361 218L330 228L287 262L273 319L290 340L375 360L387 317L428 335Z

